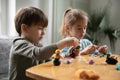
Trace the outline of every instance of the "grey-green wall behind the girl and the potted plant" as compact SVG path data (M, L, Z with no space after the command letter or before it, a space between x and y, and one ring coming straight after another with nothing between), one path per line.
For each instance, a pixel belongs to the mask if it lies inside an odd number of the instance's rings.
M56 42L61 39L60 36L60 26L62 21L62 16L64 11L69 8L81 8L88 12L89 14L93 13L95 10L103 10L104 7L108 7L108 17L109 21L106 21L110 25L115 25L119 28L120 21L120 11L119 11L119 0L54 0L54 14L53 14L53 36L52 42ZM62 6L61 6L62 5ZM103 38L104 37L104 38ZM101 44L108 45L109 49L111 49L110 41L108 36L105 34L100 35ZM115 51L113 53L120 52L120 40L117 39L115 42ZM112 50L112 49L111 49Z

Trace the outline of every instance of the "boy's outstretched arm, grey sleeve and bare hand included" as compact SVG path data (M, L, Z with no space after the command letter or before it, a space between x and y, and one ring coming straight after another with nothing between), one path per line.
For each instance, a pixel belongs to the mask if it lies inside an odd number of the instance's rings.
M66 46L76 45L73 38L63 39L56 44L51 44L45 47L37 47L26 40L17 40L14 43L14 54L23 55L29 58L35 58L39 60L48 59L58 48L64 48Z

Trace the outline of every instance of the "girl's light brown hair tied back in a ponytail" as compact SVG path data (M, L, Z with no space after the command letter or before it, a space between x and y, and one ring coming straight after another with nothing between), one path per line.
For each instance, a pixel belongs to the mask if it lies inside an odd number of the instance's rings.
M63 15L61 36L63 38L67 37L66 26L73 26L79 20L88 20L88 14L80 9L67 9Z

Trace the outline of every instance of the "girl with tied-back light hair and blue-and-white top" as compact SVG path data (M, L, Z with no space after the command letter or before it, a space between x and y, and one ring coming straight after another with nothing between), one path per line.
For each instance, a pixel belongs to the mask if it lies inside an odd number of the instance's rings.
M97 46L87 39L83 39L86 34L88 15L80 9L67 9L63 15L61 26L61 35L63 38L76 37L80 40L80 54L94 53L96 50L106 53L108 47L106 45ZM61 52L66 55L70 47L64 48Z

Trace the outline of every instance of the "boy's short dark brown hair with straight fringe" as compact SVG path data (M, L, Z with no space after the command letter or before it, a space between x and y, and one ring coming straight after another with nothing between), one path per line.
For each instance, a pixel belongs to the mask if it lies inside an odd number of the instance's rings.
M42 27L47 27L48 18L42 10L35 7L21 8L14 19L15 28L19 36L21 36L21 25L26 24L29 27L31 25L40 24Z

